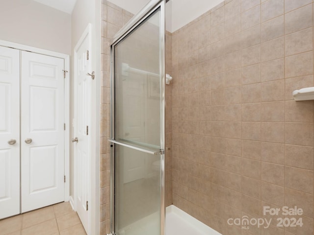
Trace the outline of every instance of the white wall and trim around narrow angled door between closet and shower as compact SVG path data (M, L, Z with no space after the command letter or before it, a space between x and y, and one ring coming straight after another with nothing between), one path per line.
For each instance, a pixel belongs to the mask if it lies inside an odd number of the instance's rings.
M72 55L74 54L74 48L76 47L78 40L82 33L88 26L92 24L92 51L90 51L90 58L92 61L92 71L95 71L95 80L92 82L92 129L91 133L91 231L90 235L98 235L100 227L99 211L100 211L100 94L101 94L101 0L77 0L77 3L72 12ZM73 56L71 59L71 114L70 120L74 118L73 110L73 81L74 81L74 61ZM90 71L90 73L92 72ZM73 128L71 129L71 138L73 136ZM73 149L71 148L71 188L70 194L73 196Z

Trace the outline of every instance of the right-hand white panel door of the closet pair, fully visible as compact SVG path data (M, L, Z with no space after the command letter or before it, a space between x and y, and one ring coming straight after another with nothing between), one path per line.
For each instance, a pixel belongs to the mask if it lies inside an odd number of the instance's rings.
M22 212L64 201L64 60L21 52Z

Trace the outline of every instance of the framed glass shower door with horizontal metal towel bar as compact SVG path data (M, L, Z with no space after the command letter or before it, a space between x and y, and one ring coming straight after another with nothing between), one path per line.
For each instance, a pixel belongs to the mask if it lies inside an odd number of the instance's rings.
M164 234L164 4L150 1L111 46L110 230L116 235Z

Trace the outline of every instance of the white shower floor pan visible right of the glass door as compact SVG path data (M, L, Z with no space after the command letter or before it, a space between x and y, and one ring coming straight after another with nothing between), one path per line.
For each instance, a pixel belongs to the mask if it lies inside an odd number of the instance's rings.
M166 208L166 235L221 235L174 205Z

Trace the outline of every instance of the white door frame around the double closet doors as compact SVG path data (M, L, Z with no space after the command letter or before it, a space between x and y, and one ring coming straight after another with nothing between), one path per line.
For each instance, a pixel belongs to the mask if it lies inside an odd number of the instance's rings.
M70 55L4 40L0 40L0 46L64 59L64 70L67 71L64 79L64 175L66 178L64 183L64 201L67 202L70 200Z

